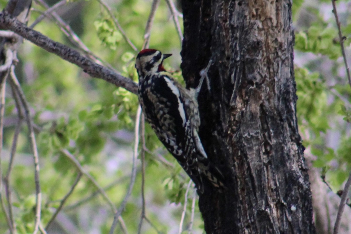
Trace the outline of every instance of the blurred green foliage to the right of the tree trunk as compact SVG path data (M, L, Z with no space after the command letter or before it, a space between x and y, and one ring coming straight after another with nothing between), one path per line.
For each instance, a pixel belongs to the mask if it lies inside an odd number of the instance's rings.
M299 8L300 3L296 7ZM350 156L347 155L351 142L346 131L351 120L351 87L346 75L340 72L345 71L345 65L339 62L342 61L342 54L334 15L325 20L317 6L306 7L305 11L312 19L310 25L303 26L307 26L306 30L296 33L295 48L317 57L305 61L305 67L295 69L299 129L304 146L316 156L313 166L323 168L326 180L338 190L347 178L351 165ZM339 18L342 19L342 33L346 36L343 40L347 47L351 40L348 37L351 17L339 11ZM327 67L324 67L325 63ZM344 121L340 121L342 119ZM333 138L339 140L331 143Z

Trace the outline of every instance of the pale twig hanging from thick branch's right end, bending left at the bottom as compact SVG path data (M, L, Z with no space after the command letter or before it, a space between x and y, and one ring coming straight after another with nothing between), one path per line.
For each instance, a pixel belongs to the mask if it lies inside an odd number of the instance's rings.
M135 142L134 142L134 153L133 153L133 160L132 160L132 175L131 175L131 180L129 183L129 187L127 190L127 194L124 197L120 207L118 208L117 212L115 213L114 217L113 217L113 222L110 228L110 232L109 234L113 234L114 229L118 223L117 219L118 217L121 215L122 211L124 210L124 208L127 205L127 200L129 198L129 196L132 193L132 189L134 186L134 182L135 182L135 177L136 177L136 172L137 172L137 166L136 166L136 161L137 161L137 156L138 156L138 146L139 146L139 125L140 125L140 117L141 117L141 107L140 105L138 106L138 110L137 110L137 118L135 119Z

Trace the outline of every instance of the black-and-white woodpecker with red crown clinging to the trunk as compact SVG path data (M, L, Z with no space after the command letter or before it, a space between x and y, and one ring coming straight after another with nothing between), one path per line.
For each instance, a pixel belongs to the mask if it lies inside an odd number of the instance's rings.
M163 67L163 60L171 55L144 49L135 61L139 103L146 121L200 193L204 191L205 179L215 187L224 187L223 175L211 165L198 134L197 96L204 78L196 89L183 88Z

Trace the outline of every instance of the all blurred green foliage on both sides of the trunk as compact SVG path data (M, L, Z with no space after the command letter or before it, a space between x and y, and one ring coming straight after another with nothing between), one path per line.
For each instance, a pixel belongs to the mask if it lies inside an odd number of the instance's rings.
M72 21L72 28L79 29L77 34L80 39L105 65L111 64L121 75L137 81L138 75L134 68L137 52L125 41L110 15L98 1L78 3L79 7L73 10L79 11L79 20L72 18L69 21ZM5 6L7 1L2 0L0 4ZM121 0L108 4L125 34L140 49L144 42L150 1ZM40 11L46 11L35 2L33 7L39 11L32 12L29 24L41 14ZM337 190L351 169L351 138L347 130L351 120L351 91L345 75L340 72L344 71L344 65L340 63L340 44L335 21L333 18L326 20L318 6L309 6L304 0L293 2L294 20L299 20L302 9L312 20L306 25L296 25L299 28L295 35L296 53L303 56L313 53L315 57L310 61L303 61L300 67L295 68L299 130L303 144L308 149L306 152L316 156L313 165L323 168L326 179ZM158 48L167 53L179 52L181 44L168 12L166 3L161 1L151 31L150 48ZM34 29L55 41L72 46L53 21L45 20ZM351 42L351 17L348 13L343 15L342 30L347 37L345 46L348 46ZM137 96L105 81L91 79L77 66L28 41L24 42L18 56L20 62L16 74L33 113L38 143L43 225L49 221L77 176L76 166L62 150L71 152L82 168L105 189L112 203L118 206L130 183ZM164 66L184 85L179 67L170 66L180 64L180 60L174 61L174 57L176 56L167 59L169 63L166 62ZM329 66L327 72L323 67L326 61ZM5 119L15 119L14 116L15 103L8 95ZM35 217L33 159L27 140L28 129L22 129L10 179L10 186L14 191L14 219L20 234L33 233ZM14 132L14 125L5 126L4 151L1 154L5 152L8 155ZM337 145L330 145L326 138L326 135L333 132L339 134ZM181 167L166 152L149 125L145 126L145 140L146 215L161 232L168 233L172 228L168 223L180 220L188 177L184 176ZM144 142L140 142L139 152L141 147L144 147ZM7 169L8 165L9 161L5 157L1 162L2 169ZM137 169L135 186L122 214L129 233L137 232L140 217L140 157L137 160ZM82 176L66 203L67 209L61 211L72 220L80 233L91 230L108 233L110 229L113 212L101 196L94 195L96 191L97 188L90 179ZM189 194L191 193L192 189ZM85 200L86 202L82 202ZM192 202L190 195L187 201L188 219ZM170 203L174 205L170 206ZM73 208L69 208L72 205ZM169 214L169 222L159 216L160 209L164 207ZM101 214L106 214L106 220L101 218L103 216L100 217ZM197 205L195 214L194 227L203 230ZM81 226L81 219L91 226ZM144 226L143 233L155 233L150 226ZM0 233L6 233L7 229L4 213L0 212Z

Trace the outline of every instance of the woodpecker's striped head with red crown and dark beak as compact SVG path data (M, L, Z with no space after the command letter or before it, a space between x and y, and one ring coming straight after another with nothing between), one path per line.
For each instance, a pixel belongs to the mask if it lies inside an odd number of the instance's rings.
M162 63L163 60L172 54L162 54L156 49L143 49L139 52L135 61L135 68L137 68L139 77L156 72L165 71Z

